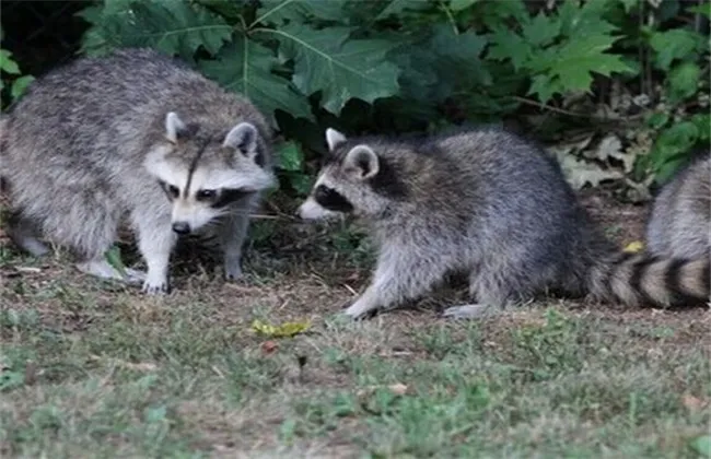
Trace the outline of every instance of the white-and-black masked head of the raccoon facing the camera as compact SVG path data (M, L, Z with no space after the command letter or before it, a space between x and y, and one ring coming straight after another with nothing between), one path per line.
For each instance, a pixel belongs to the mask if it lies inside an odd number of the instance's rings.
M254 125L240 122L220 137L200 136L199 130L168 113L167 142L144 162L172 204L171 223L177 234L198 231L235 207L244 209L276 183L263 167L263 143Z

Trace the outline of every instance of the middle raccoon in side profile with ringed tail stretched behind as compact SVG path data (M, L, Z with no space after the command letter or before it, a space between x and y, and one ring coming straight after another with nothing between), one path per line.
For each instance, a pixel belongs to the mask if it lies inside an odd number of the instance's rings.
M627 305L673 305L709 295L709 260L620 254L592 224L558 163L505 131L482 128L422 141L346 139L328 129L329 154L302 219L352 214L380 245L356 318L416 299L448 272L469 275L489 308L553 289Z

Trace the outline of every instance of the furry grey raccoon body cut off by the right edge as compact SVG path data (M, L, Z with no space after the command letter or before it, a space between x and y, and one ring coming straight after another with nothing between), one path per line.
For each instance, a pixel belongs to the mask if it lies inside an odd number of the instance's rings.
M686 165L662 187L652 204L646 239L649 251L660 257L711 257L709 152Z

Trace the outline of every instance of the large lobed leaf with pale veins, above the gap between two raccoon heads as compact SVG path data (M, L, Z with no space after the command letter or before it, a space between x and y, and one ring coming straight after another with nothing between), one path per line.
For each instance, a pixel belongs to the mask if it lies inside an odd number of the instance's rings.
M400 70L385 59L396 44L384 39L349 39L350 27L315 31L302 24L255 30L279 39L280 54L294 60L293 82L305 95L322 92L322 105L338 115L353 97L368 103L399 91Z

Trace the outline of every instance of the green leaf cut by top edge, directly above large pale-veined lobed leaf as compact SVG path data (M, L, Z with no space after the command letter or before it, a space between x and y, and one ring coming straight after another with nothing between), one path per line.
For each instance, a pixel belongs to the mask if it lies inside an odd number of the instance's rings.
M349 0L261 0L254 24L284 21L304 22L308 17L342 22L343 7Z

